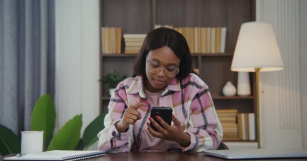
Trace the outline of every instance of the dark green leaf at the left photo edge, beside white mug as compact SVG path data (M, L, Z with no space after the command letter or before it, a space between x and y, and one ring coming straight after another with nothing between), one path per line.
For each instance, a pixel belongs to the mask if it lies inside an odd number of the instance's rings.
M0 154L4 156L11 153L20 153L20 138L3 125L0 125L0 131Z

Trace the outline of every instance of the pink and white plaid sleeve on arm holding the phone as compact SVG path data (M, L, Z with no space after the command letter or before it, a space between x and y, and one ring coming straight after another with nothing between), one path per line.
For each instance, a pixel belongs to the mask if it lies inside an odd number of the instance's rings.
M207 85L196 93L189 110L188 128L185 132L190 135L191 143L187 147L180 146L182 151L217 149L223 138L223 129Z

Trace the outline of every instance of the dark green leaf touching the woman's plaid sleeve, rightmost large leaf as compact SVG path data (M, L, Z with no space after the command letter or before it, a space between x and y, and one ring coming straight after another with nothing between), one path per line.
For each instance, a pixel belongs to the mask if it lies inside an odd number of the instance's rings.
M101 113L85 128L82 137L85 148L92 145L98 139L98 132L105 128L104 119L107 113L108 111Z

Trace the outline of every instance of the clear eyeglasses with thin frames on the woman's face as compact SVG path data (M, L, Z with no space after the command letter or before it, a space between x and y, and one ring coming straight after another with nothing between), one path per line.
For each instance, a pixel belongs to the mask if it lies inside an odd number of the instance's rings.
M164 68L163 72L167 76L176 76L179 72L179 69L174 66L168 66L168 67L162 67L160 64L151 62L147 60L147 67L150 72L158 73L161 71L162 68Z

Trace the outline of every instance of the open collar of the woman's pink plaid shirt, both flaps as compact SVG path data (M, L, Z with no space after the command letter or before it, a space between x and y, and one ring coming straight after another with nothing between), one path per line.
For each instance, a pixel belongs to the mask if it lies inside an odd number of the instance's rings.
M162 93L162 96L167 94L169 91L180 91L180 83L176 77L172 79L170 84L166 87L166 90ZM128 94L139 94L141 98L146 98L144 89L143 89L143 79L141 75L134 77L133 82L127 90Z

